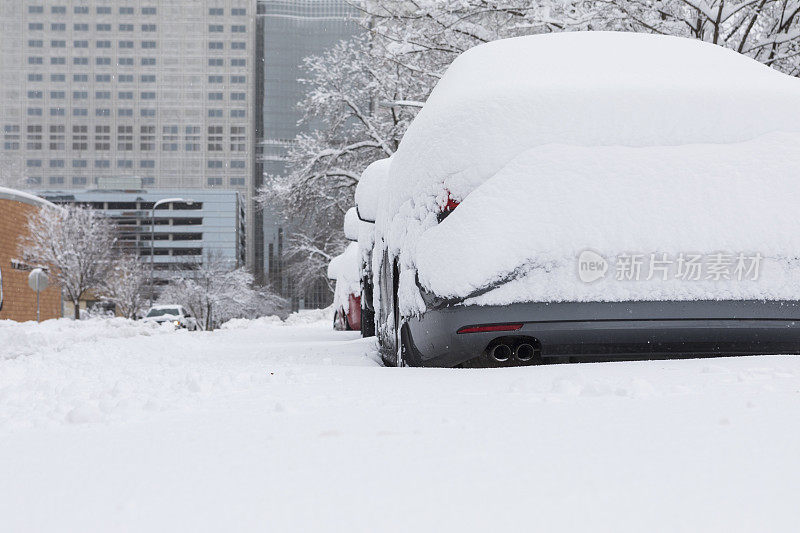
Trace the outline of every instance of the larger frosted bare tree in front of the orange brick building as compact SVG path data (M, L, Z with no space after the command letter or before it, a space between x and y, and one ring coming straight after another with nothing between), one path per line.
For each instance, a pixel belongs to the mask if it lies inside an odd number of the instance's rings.
M113 269L114 225L100 213L80 206L43 207L28 217L19 254L30 264L47 267L75 306L91 289L100 289Z

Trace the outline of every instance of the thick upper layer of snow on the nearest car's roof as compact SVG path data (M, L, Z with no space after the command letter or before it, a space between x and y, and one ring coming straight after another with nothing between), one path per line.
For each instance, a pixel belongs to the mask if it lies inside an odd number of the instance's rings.
M800 80L713 44L574 32L459 56L393 156L390 211L445 182L456 197L549 143L656 146L800 131Z

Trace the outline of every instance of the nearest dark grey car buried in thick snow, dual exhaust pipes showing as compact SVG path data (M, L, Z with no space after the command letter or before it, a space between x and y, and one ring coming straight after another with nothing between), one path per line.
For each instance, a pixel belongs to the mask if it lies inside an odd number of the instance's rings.
M475 47L392 156L389 365L800 353L800 80L708 43Z

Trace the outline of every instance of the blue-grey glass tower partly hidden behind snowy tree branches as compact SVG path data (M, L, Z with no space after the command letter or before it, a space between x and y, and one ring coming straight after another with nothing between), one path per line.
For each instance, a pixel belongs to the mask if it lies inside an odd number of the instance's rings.
M298 125L303 116L297 103L308 90L299 81L307 77L302 68L303 59L321 54L359 32L359 14L353 2L346 0L259 2L256 106L260 158L257 166L263 165L264 173L284 174L285 156L295 137L319 125ZM261 175L258 170L256 174ZM263 241L257 245L256 260L264 265L269 281L290 298L294 308L329 304L331 295L327 287L294 287L285 275L281 255L288 230L281 213L267 207L259 221L263 221L263 228L259 228Z

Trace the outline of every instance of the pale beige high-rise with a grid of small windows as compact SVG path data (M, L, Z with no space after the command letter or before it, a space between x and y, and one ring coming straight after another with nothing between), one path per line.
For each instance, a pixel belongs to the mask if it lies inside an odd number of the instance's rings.
M255 21L256 0L0 1L0 182L231 189L252 228Z

